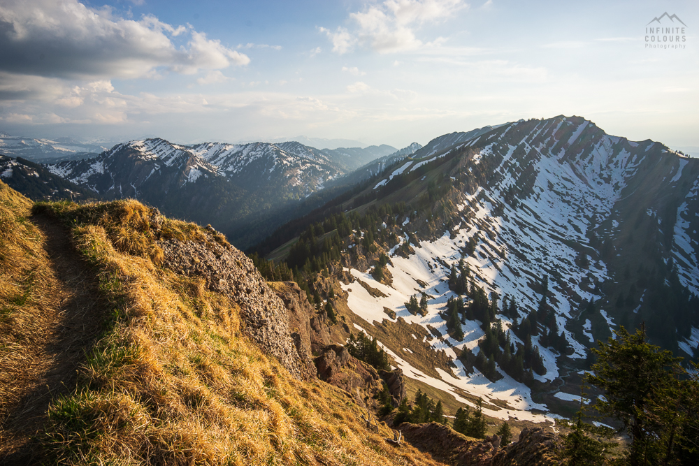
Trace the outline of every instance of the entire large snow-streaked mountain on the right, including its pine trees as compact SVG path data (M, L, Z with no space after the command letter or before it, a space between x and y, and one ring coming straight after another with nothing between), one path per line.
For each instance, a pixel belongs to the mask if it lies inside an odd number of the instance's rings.
M377 337L413 391L542 420L575 409L614 326L647 321L693 356L696 159L561 116L442 136L399 165L270 256L310 275L338 258L347 333Z

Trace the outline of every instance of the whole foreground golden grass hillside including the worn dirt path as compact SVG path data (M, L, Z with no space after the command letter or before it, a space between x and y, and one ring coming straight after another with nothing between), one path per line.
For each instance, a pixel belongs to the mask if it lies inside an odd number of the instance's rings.
M2 182L0 231L3 464L440 464L272 356L254 335L281 322L257 312L284 305L218 233L136 201L32 207ZM227 289L177 270L189 248L228 263Z

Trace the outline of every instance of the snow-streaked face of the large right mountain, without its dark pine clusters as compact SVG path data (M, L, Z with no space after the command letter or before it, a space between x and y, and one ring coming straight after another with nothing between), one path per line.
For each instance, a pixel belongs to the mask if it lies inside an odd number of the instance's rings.
M461 402L466 402L462 392L466 391L491 405L498 405L496 400L507 403L511 412L519 411L519 418L541 420L521 411L546 412L547 403L568 400L570 393L561 391L566 380L584 368L592 337L608 335L610 328L622 324L633 328L641 320L658 322L649 328L651 340L681 351L681 356L692 355L699 340L699 309L691 310L699 303L696 160L650 140L609 136L579 117L523 120L470 138L461 134L438 138L415 159L372 184L371 200L406 203L420 199L428 191L427 182L435 191L449 185L456 191L445 191L451 194L436 198L427 212L416 210L396 219L403 226L401 245L408 235L422 240L419 245L413 242L415 254L408 258L398 245L388 252L391 286L377 282L368 270L354 268L348 270L352 279L343 285L349 309L366 322L356 327L379 340L391 331L385 321L398 323L398 319L443 335L432 340L431 347L445 351L454 367L452 373L438 370L440 377L424 374L405 361L407 349L387 343L408 377L447 391ZM441 162L447 159L452 162ZM406 178L411 173L415 175ZM415 181L408 184L410 180ZM433 219L440 210L447 212L439 217L444 223ZM498 372L503 378L493 382L477 369L467 370L458 357L466 349L477 354L484 338L480 321L463 321L462 341L447 334L446 303L457 298L448 286L449 270L461 259L475 285L489 296L517 301L520 323L537 309L542 278L548 277L546 302L570 349L561 354L540 344L540 336L532 337L546 367L545 374L534 376L542 384L535 393L502 367ZM672 277L685 291L677 291ZM381 293L369 293L366 286L357 285L360 281ZM669 301L658 298L670 290L682 296L677 303L686 311L671 309ZM405 306L416 293L431 297L426 316L413 315ZM589 301L596 302L599 312L594 324L581 319ZM395 318L386 310L394 311ZM506 328L512 325L511 316L498 318ZM510 337L522 342L514 333ZM511 412L487 414L507 418Z

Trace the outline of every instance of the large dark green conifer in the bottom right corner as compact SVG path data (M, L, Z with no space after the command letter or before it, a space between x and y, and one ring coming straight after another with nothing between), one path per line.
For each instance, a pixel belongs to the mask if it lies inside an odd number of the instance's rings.
M604 392L595 409L617 419L630 437L623 464L699 464L699 366L688 373L682 358L622 326L594 349L598 361L586 380ZM575 450L572 450L575 452ZM599 464L601 455L597 454Z

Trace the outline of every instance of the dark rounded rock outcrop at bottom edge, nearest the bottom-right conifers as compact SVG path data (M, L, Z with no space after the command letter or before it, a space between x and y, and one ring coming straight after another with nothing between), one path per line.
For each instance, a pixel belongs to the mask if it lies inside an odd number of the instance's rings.
M498 451L491 466L554 466L559 459L561 438L542 428L524 428L519 440Z

